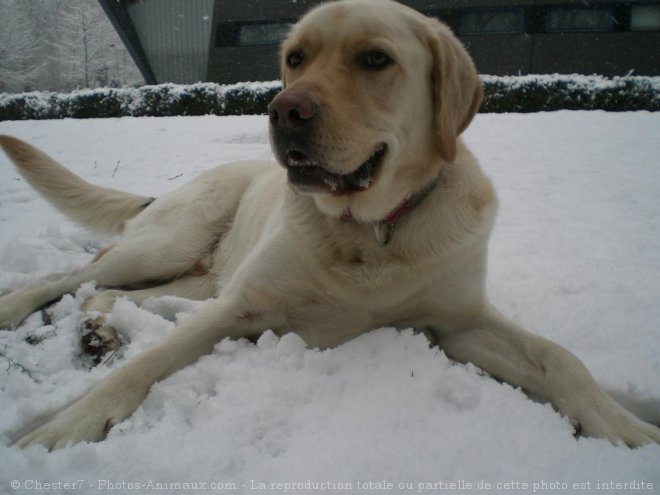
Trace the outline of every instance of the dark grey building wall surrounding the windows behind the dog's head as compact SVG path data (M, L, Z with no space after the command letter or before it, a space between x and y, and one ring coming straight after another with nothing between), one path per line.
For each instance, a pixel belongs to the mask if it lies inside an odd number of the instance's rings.
M295 20L319 0L216 0L209 51L209 81L273 80L279 77L278 47L227 46L219 31L238 21ZM619 5L621 0L404 0L424 13L439 16L459 31L459 10L547 5ZM658 0L630 0L627 5L657 5ZM618 7L617 7L618 8ZM625 7L623 7L625 10ZM624 15L625 17L625 15ZM603 75L660 75L660 32L624 32L616 25L611 32L544 33L543 19L527 16L525 33L461 36L482 74L582 73ZM536 26L534 25L536 23Z

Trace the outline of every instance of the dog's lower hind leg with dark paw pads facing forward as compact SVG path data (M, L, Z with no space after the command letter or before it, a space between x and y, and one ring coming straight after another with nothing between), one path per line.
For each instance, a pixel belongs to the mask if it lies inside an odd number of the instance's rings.
M81 328L80 345L85 354L96 363L108 352L121 346L117 330L107 322L107 314L115 301L124 297L142 304L151 297L177 296L196 301L204 301L215 295L215 278L210 274L187 275L172 282L139 290L104 290L83 305L86 316Z

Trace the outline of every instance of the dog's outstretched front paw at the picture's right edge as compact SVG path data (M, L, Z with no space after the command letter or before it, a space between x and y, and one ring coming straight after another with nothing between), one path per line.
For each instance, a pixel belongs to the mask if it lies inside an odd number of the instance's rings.
M574 424L578 433L606 438L613 444L624 443L633 448L660 443L660 428L635 417L614 399L607 397L603 402L600 407L576 418Z

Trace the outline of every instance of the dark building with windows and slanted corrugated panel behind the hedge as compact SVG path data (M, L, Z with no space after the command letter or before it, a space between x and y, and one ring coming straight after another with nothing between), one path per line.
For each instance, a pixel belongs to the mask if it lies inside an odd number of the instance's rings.
M321 0L100 0L149 82L267 81ZM403 0L447 23L482 74L660 75L658 0ZM123 34L122 34L123 31ZM131 46L132 45L132 46ZM147 78L151 71L151 78Z

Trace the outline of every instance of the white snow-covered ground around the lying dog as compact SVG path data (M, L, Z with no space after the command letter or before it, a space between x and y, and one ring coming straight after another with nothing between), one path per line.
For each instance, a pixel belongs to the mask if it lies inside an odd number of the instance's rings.
M265 117L0 122L0 133L29 140L92 182L150 195L215 164L272 156ZM465 134L501 200L493 301L570 348L656 424L658 136L660 114L646 112L479 115ZM85 263L103 242L39 199L0 157L0 292ZM64 297L51 323L37 313L0 331L0 493L137 493L140 484L160 493L660 491L660 446L576 440L548 405L450 362L422 336L387 328L324 352L268 332L256 345L225 341L155 385L103 443L51 454L9 447L42 413L121 364L90 371L79 357L79 308L94 290ZM112 318L131 339L124 358L197 304L120 300Z

